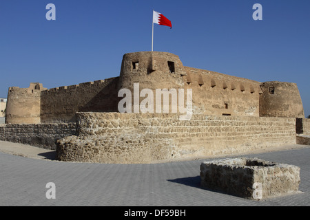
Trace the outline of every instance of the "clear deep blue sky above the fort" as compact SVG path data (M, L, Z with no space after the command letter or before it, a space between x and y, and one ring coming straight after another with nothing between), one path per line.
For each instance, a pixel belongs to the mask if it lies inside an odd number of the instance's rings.
M56 20L45 18L48 3ZM252 9L262 5L262 20ZM48 89L118 76L123 54L154 51L183 65L260 82L297 83L310 115L309 0L1 0L0 97L8 87Z

